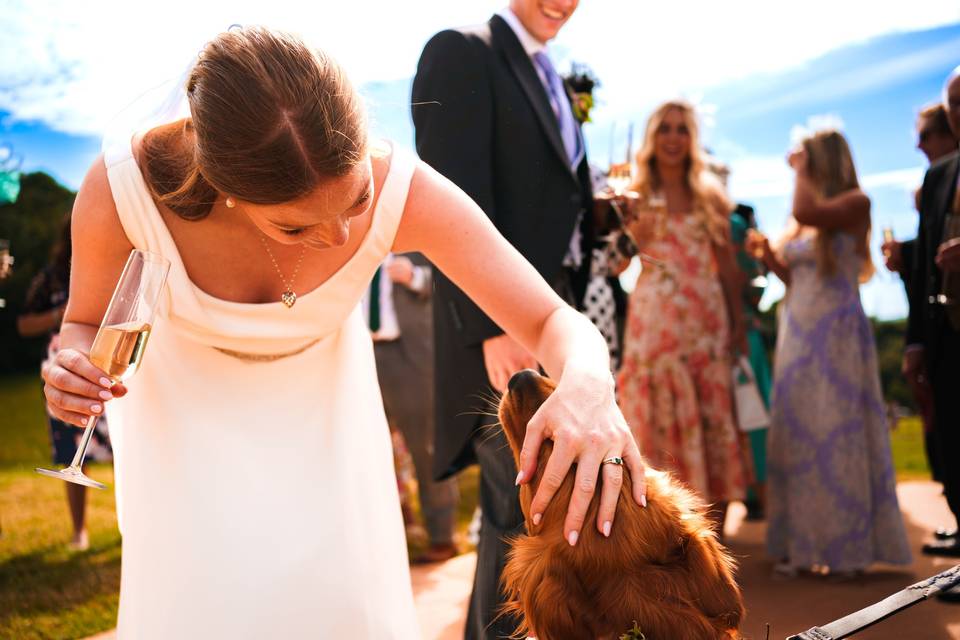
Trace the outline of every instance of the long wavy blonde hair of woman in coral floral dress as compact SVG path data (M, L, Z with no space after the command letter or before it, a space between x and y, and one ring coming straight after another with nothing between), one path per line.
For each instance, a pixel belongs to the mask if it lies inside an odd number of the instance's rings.
M636 155L636 179L633 190L642 198L649 198L663 187L657 170L656 140L657 132L666 115L677 111L683 116L684 124L690 133L690 153L687 155L685 181L693 196L693 214L700 216L703 225L716 244L726 244L730 239L730 212L733 204L727 198L719 179L709 171L707 156L700 148L700 134L697 126L697 113L693 105L685 100L664 102L653 112L647 121L647 130L643 145Z

